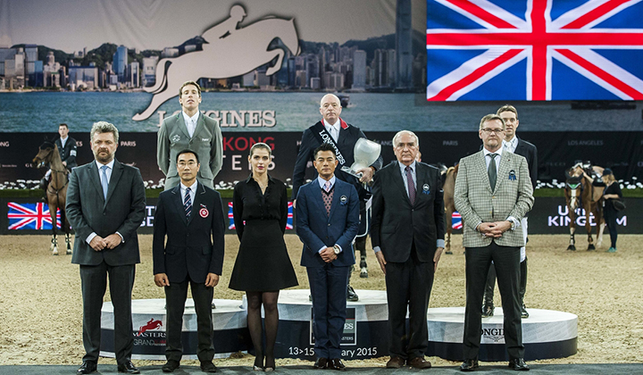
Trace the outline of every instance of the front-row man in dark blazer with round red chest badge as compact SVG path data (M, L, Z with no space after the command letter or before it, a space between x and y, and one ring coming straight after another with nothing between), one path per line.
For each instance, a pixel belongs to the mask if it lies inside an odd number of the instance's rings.
M180 185L159 196L154 214L154 283L165 287L167 345L163 372L179 368L188 284L195 302L201 370L216 372L210 303L223 267L225 224L219 192L196 180L201 167L191 150L177 154ZM167 244L165 244L167 237Z

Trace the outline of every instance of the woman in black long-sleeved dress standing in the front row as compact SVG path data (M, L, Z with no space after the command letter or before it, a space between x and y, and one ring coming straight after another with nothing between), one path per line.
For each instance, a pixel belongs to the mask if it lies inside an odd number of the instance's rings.
M232 197L232 212L241 244L229 287L246 291L247 325L256 355L254 370L273 371L279 291L298 284L283 239L288 221L288 196L286 185L268 175L270 146L264 143L252 146L248 161L252 165L252 173L238 182ZM262 347L262 304L265 351Z

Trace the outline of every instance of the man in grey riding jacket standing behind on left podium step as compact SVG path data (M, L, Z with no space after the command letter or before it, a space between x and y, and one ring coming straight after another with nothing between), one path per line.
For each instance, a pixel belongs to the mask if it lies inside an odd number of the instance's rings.
M198 154L201 169L196 179L206 187L214 188L213 179L223 164L223 137L217 121L198 110L201 87L188 80L179 90L182 111L163 120L156 138L156 162L165 174L165 190L179 185L176 167L177 154L192 150Z

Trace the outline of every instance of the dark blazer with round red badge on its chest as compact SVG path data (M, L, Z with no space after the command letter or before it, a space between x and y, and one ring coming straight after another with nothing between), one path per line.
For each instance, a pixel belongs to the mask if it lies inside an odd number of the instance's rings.
M190 220L186 218L180 185L159 195L154 213L152 253L154 275L172 282L188 278L205 283L208 273L221 275L225 223L219 192L197 182ZM167 243L165 243L167 237Z

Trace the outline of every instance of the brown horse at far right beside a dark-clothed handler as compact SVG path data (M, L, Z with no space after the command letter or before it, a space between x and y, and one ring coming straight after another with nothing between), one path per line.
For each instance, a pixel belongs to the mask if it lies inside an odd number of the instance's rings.
M603 175L603 168L594 166L593 171L598 176ZM592 185L592 179L586 173L580 164L574 165L566 171L567 180L565 181L565 202L570 218L570 245L567 250L576 250L574 232L576 231L576 215L585 214L585 229L588 232L588 250L596 250L603 243L603 230L605 229L605 219L603 218L603 190L605 187ZM597 224L597 245L594 246L592 238L590 214L594 214L594 220Z

